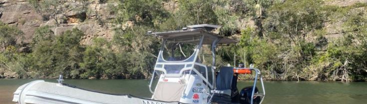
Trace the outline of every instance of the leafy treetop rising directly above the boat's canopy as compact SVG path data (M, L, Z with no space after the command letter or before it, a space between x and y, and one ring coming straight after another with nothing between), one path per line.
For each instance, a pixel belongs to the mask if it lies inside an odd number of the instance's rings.
M212 0L179 0L177 11L162 18L157 30L177 30L193 24L217 24L218 15L215 6L218 2Z

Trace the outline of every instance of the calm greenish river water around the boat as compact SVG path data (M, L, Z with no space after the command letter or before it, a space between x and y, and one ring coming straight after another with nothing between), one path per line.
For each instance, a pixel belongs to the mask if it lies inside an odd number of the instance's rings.
M31 80L35 79L0 79L0 103L15 103L11 102L12 93ZM45 81L57 82L55 79ZM151 96L149 80L66 79L64 82L109 93ZM238 88L250 86L252 82L239 81ZM367 82L265 81L264 84L266 96L263 103L367 103Z

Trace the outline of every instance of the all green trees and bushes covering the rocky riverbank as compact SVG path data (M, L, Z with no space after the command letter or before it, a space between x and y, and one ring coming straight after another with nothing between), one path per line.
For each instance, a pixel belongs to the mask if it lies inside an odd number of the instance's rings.
M44 19L58 23L55 15L67 8L64 1L29 3ZM74 10L88 12L89 0L75 1L79 6ZM218 46L218 66L254 63L264 78L276 80L367 80L367 3L340 7L323 0L179 0L178 8L167 10L162 2L169 0L98 1L109 3L109 13L116 15L102 21L96 12L100 23L112 24L112 40L93 38L91 45L82 45L83 32L78 29L54 35L49 26L41 26L29 44L32 50L24 53L15 44L23 33L0 23L0 67L19 77L145 78L160 46L159 38L145 35L146 31L208 23L222 25L220 35L240 41ZM343 35L329 36L325 24L340 22ZM203 50L204 56L205 46Z

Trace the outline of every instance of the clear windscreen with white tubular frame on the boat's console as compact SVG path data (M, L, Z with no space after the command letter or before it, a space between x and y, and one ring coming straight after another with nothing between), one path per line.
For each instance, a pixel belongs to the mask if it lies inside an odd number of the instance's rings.
M164 39L154 70L162 71L168 77L181 77L187 73L197 74L213 87L211 46L203 48L203 41L213 42L206 40L205 35Z

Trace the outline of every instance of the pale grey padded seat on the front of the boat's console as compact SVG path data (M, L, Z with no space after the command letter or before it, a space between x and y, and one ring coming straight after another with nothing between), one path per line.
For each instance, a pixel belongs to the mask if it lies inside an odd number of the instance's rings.
M153 99L163 101L179 101L186 83L159 81Z

